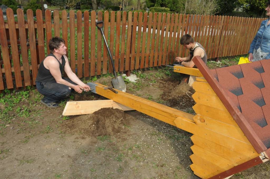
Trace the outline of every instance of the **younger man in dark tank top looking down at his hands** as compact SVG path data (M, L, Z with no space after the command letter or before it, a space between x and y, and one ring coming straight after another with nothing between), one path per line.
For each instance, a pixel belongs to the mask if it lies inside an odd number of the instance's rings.
M176 57L176 61L181 62L181 65L184 65L185 67L196 68L195 63L192 61L192 58L198 55L206 64L207 54L204 47L200 43L194 42L194 39L191 37L191 35L185 34L183 37L181 37L180 43L181 45L184 45L186 49L189 49L190 53L187 57L184 58Z

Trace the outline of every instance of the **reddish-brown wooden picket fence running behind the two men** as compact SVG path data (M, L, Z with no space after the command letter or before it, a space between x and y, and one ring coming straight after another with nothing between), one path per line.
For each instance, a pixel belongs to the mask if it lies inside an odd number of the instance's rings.
M116 13L116 14L115 14ZM112 72L107 49L96 20L104 21L104 33L117 72L173 64L176 56L188 51L180 45L184 34L194 36L207 51L208 58L246 54L262 18L213 15L186 15L142 12L64 10L0 10L0 90L35 85L40 62L49 52L52 36L65 39L70 66L79 78ZM27 17L27 21L25 18ZM116 18L115 18L116 17ZM109 20L110 19L110 20ZM87 23L86 23L87 22ZM103 55L106 54L106 55Z

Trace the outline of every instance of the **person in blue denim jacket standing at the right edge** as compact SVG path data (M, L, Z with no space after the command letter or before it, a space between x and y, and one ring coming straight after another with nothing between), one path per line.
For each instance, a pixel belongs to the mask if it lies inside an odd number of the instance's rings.
M266 3L266 15L270 16L270 1ZM270 59L270 19L262 21L261 26L250 44L249 61Z

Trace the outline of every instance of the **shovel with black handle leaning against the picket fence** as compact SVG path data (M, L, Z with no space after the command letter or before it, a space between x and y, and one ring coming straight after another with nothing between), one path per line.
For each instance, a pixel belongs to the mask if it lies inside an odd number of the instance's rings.
M104 32L103 32L103 26L104 26L103 20L97 21L96 22L96 26L101 31L101 34L102 34L103 39L104 39L104 43L106 44L107 50L108 50L109 55L110 55L110 60L111 60L112 66L113 66L113 73L114 73L114 78L112 78L113 87L115 89L120 90L120 91L126 92L127 91L127 87L126 87L126 84L125 84L125 82L123 80L122 75L117 76L116 75L116 72L115 72L113 57L112 57L111 51L110 51L110 49L108 47L108 44L107 44L107 41L106 41L106 38L105 38L105 35L104 35Z

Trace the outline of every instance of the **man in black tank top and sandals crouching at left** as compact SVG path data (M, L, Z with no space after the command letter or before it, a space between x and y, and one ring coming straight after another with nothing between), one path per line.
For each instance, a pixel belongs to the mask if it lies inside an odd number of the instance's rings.
M41 103L50 107L58 107L57 102L68 97L72 90L77 93L89 91L90 87L84 84L71 70L66 56L65 40L53 37L49 41L50 54L40 63L36 77L36 88L44 95ZM68 78L63 78L63 71Z

